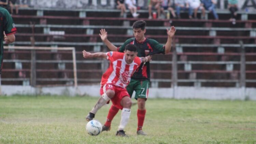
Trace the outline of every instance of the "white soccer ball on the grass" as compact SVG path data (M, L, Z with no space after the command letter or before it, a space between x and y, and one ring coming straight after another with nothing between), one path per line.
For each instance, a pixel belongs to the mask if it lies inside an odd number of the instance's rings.
M98 120L91 120L86 125L86 131L90 135L98 135L102 130L102 125Z

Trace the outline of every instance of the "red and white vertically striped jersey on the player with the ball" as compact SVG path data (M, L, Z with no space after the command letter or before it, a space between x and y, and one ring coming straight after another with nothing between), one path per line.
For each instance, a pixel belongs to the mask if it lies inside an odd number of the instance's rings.
M130 83L131 76L141 64L141 59L135 57L133 62L127 64L125 54L120 52L108 52L107 59L110 61L109 68L101 77L101 86L113 84L115 86L126 88Z

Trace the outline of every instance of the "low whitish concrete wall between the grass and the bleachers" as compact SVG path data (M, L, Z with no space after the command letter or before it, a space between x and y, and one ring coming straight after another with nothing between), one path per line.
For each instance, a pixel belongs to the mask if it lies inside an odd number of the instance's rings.
M90 95L99 97L99 85L74 87L42 87L2 85L2 95ZM134 93L133 93L134 95ZM134 96L133 96L134 97ZM256 88L176 87L150 88L149 98L256 100Z

